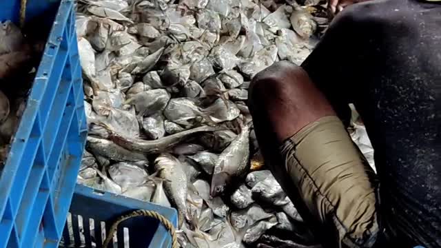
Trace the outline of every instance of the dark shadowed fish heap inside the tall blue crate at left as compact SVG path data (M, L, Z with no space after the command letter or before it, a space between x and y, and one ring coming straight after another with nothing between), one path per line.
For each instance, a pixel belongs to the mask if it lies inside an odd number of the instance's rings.
M0 167L10 150L34 80L44 39L21 30L12 21L0 22ZM43 36L44 32L41 32ZM32 44L32 45L30 45Z

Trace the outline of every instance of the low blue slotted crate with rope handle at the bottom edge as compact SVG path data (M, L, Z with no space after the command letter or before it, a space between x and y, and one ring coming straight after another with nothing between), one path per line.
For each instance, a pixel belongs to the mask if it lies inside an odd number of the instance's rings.
M116 218L138 209L157 211L170 220L174 227L178 225L176 209L76 185L72 205L70 205L71 220L68 221L68 223L72 223L72 229L69 231L66 224L63 233L63 247L92 247L92 242L96 244L97 248L103 247L102 225L105 226L105 234L107 235ZM94 230L92 234L90 227L93 227ZM118 226L116 230L118 248L125 247L125 228L127 228L126 238L128 237L130 248L167 248L172 246L169 232L158 220L139 216L125 220Z

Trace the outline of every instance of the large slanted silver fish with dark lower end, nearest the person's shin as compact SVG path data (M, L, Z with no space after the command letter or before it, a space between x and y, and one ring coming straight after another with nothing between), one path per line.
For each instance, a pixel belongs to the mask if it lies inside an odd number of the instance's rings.
M222 194L233 177L243 176L248 169L248 159L249 125L247 124L236 139L220 154L214 167L210 194L212 196Z

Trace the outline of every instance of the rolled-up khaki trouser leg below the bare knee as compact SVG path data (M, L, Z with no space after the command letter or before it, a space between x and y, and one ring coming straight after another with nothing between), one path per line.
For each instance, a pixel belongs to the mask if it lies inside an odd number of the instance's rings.
M332 247L372 247L378 235L373 172L337 116L303 127L281 147L311 214L336 233Z

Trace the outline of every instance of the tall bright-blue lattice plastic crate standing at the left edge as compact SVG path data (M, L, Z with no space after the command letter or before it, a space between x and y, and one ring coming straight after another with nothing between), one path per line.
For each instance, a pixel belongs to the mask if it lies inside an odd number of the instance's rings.
M18 23L20 2L0 0L1 21ZM27 2L52 28L0 176L0 248L58 246L87 136L74 1Z

